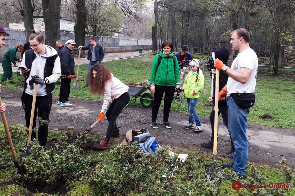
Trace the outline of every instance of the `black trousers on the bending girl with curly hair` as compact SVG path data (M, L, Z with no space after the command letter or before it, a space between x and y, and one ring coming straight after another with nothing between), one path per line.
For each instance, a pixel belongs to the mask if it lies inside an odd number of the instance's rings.
M109 121L109 126L106 130L106 137L108 139L111 138L111 135L113 134L114 130L117 129L116 120L119 114L121 114L124 107L129 102L129 100L130 95L128 92L125 92L118 99L112 101L111 105L109 106L109 109L106 111L106 118Z

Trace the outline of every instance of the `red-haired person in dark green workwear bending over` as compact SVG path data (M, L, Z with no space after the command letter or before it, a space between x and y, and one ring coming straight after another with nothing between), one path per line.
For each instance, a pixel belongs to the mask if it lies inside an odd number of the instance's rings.
M3 67L4 73L2 74L2 77L1 77L1 83L6 81L7 79L12 78L11 63L13 63L13 67L16 66L15 61L19 61L19 59L17 59L15 55L17 54L17 52L22 52L23 49L24 47L21 44L19 44L17 45L17 47L9 49L5 53L4 57L2 58L2 67Z

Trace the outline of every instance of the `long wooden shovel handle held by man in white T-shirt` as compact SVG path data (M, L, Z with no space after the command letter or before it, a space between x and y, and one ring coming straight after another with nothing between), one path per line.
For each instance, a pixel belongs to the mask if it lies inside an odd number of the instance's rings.
M213 82L213 81L212 81ZM219 69L216 69L215 76L215 107L214 107L214 140L213 140L213 161L217 159L217 126L218 126L218 89L219 89Z

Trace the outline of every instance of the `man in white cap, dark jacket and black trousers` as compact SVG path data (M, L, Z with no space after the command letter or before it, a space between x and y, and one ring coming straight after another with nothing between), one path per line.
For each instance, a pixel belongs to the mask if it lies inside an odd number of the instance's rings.
M73 106L73 104L69 103L69 95L71 89L71 76L75 75L75 61L72 54L75 44L76 43L73 39L69 39L65 42L65 47L60 48L58 51L60 57L61 74L68 76L68 78L61 79L59 91L58 105L63 107Z

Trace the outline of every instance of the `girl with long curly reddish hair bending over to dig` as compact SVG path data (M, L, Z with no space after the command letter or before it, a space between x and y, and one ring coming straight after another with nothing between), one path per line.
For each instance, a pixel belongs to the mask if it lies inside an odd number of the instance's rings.
M116 120L130 100L130 95L128 93L129 87L123 84L118 78L114 77L103 64L91 66L87 77L89 79L91 93L104 94L104 103L101 107L98 119L102 121L104 116L106 116L109 121L109 126L102 141L94 145L94 147L106 149L109 147L109 140L111 137L120 136ZM112 104L109 106L109 109L107 109L111 100Z

